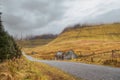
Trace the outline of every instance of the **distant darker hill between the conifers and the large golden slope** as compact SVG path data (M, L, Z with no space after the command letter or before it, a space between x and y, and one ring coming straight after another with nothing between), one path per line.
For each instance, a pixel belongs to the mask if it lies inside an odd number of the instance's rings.
M43 34L43 35L37 35L37 36L28 36L23 40L16 40L19 46L21 47L36 47L36 46L42 46L46 45L52 40L54 40L57 37L57 35L53 34Z

